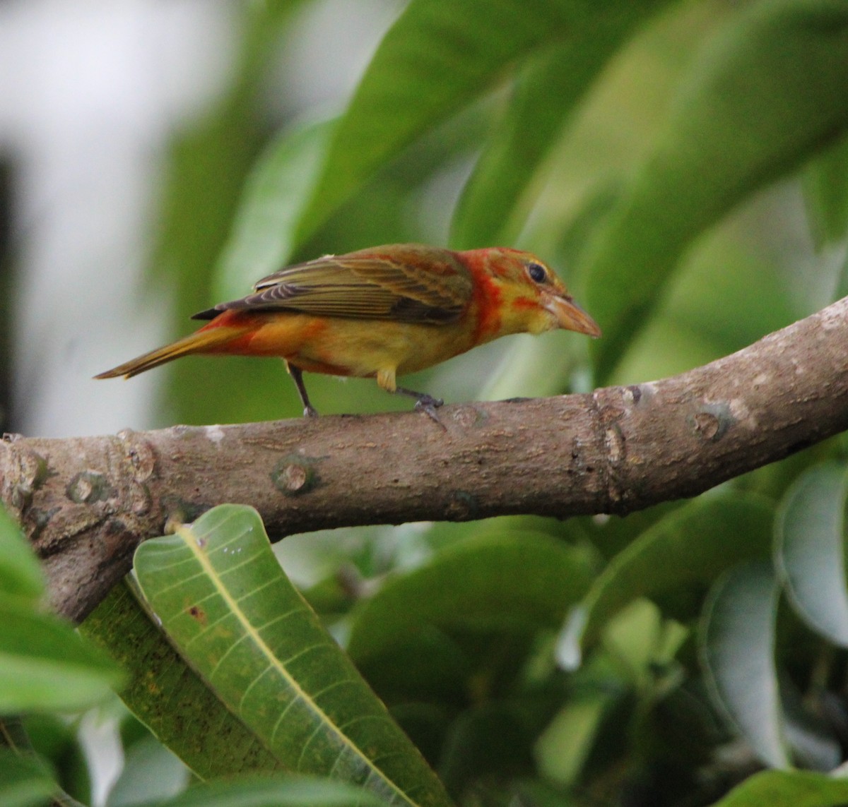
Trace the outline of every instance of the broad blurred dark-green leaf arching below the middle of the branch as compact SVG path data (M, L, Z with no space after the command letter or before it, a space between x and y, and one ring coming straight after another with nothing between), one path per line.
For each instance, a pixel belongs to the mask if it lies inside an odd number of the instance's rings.
M352 613L348 650L358 665L417 632L535 632L554 627L589 587L592 563L539 532L471 538L390 579Z

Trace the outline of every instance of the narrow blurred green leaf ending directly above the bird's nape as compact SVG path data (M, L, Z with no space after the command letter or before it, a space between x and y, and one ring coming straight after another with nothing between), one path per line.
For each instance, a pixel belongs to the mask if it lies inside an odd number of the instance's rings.
M528 59L516 76L509 109L494 125L466 183L453 222L457 248L514 242L522 192L555 136L607 61L662 3L605 3L577 19L570 35Z

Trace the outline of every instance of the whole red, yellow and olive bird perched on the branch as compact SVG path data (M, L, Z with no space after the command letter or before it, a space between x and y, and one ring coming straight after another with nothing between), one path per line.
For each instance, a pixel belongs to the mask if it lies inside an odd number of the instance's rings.
M316 415L303 371L374 377L416 398L433 415L438 398L398 387L424 370L510 333L600 328L534 255L508 248L449 249L392 244L326 255L262 278L254 293L194 314L199 331L97 378L130 378L188 353L279 356Z

